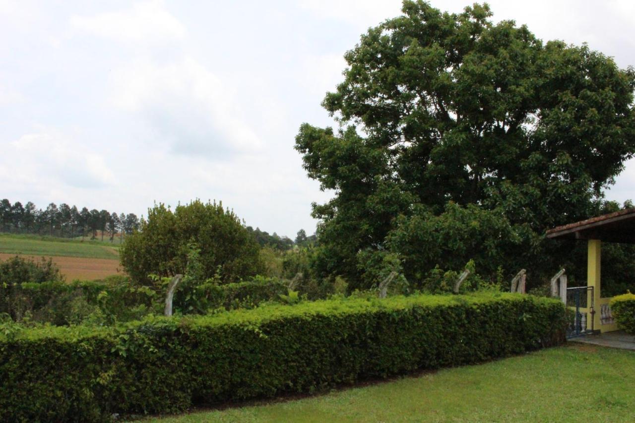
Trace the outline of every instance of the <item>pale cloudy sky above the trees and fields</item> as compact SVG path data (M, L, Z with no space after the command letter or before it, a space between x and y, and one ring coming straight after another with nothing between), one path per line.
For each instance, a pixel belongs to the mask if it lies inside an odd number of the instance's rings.
M431 1L461 11L471 1ZM635 65L635 2L488 2L493 20ZM0 198L145 215L216 199L247 225L315 230L329 192L293 149L359 36L401 1L0 0ZM607 198L635 199L635 161Z

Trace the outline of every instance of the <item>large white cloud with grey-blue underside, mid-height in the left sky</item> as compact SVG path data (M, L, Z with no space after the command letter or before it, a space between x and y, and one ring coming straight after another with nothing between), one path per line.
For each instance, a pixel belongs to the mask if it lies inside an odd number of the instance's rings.
M157 137L180 154L258 152L260 138L243 119L235 90L193 58L171 64L137 60L117 69L110 99L142 116Z

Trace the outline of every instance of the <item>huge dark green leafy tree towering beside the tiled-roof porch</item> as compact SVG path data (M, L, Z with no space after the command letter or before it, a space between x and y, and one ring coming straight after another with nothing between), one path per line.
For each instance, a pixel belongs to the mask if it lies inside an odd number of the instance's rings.
M369 284L388 253L410 279L470 258L555 271L565 247L545 229L598 213L635 151L635 72L493 24L486 4L402 11L346 53L323 102L339 130L303 124L296 138L309 177L335 192L313 208L318 271Z

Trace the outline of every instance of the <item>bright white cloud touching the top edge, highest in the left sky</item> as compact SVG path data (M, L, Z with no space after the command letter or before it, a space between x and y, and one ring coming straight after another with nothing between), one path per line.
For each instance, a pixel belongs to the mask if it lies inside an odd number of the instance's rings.
M137 3L131 9L105 12L91 17L74 15L71 26L79 31L117 41L161 43L182 39L185 27L159 1Z

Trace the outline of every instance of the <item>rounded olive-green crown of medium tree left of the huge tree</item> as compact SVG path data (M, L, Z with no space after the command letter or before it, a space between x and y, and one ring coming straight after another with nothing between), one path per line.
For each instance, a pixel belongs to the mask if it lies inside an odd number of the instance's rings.
M174 211L162 203L150 208L140 231L124 240L121 264L140 283L149 283L149 274L184 274L192 244L199 250L204 279L212 278L219 266L223 283L262 271L258 244L234 212L222 203L199 200Z

